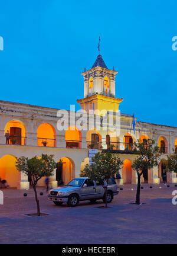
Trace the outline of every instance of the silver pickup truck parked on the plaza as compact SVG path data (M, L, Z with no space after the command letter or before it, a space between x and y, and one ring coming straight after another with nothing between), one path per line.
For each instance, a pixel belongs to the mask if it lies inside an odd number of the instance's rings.
M117 184L109 180L107 185L107 203L111 203L114 195L118 194ZM103 199L105 202L105 190L103 184L97 181L91 181L88 177L74 178L67 185L53 188L48 192L48 200L54 204L61 205L67 203L68 206L77 206L79 201L90 200L95 203L96 200Z

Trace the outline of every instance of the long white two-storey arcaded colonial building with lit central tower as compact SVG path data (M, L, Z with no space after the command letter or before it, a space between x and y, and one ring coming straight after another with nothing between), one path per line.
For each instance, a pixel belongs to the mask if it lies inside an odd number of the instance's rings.
M82 121L78 112L67 111L68 127L63 130L58 129L63 122L62 110L0 101L0 177L10 187L22 189L30 185L28 177L15 168L15 157L19 156L31 158L47 153L53 154L55 161L61 159L62 166L51 177L55 187L59 178L67 184L71 178L80 176L81 169L89 163L89 149L111 148L123 160L120 184L136 184L132 162L137 155L133 142L154 139L163 152L161 159L177 147L177 127L136 121L133 131L133 116L119 111L123 99L115 95L117 72L107 68L101 55L82 75L84 97L77 100ZM116 116L119 120L115 124ZM159 160L158 167L147 169L142 182L160 183L163 172L165 168ZM167 173L167 181L176 183L176 174ZM44 185L44 179L38 185Z

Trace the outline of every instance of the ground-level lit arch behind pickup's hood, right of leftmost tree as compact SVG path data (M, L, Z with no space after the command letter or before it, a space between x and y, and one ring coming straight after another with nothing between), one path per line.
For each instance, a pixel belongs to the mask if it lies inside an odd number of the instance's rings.
M59 181L61 179L64 185L67 185L68 182L75 176L74 161L67 157L63 157L60 160L62 161L62 164L56 169L56 180ZM60 160L58 160L58 162Z

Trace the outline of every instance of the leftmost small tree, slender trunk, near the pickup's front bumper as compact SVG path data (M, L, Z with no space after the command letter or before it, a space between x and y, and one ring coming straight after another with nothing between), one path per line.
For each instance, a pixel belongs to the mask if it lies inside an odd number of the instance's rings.
M61 162L56 163L53 159L53 155L34 156L28 159L25 156L17 158L16 168L20 172L24 172L26 175L31 177L32 188L34 189L35 201L37 203L37 215L40 216L40 201L37 196L37 182L44 176L53 175L53 171L60 165Z

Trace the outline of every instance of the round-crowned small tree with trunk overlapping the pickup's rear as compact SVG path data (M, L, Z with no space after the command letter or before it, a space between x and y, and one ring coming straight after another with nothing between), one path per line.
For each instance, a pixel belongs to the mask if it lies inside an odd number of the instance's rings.
M122 167L123 162L120 160L119 156L113 155L109 151L106 153L96 153L96 155L92 158L92 161L93 164L90 166L87 164L83 172L81 172L81 176L88 176L91 180L99 181L100 184L103 184L103 188L105 190L104 201L107 208L108 181L112 175L119 173L119 169ZM112 198L112 194L110 196Z

